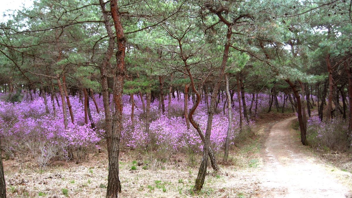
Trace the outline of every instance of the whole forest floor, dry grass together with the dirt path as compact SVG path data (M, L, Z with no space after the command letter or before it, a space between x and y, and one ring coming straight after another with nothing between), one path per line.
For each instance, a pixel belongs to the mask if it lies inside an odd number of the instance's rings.
M219 162L222 173L213 173L209 168L199 193L192 188L200 155L177 153L168 161L159 161L157 153L126 149L120 154L119 196L352 197L351 189L346 187L352 186L352 175L341 168L351 163L350 157L302 146L299 134L291 128L294 119L294 114L261 115L251 138L232 147L226 165ZM222 153L217 156L221 159ZM8 197L93 198L106 194L108 160L104 149L80 164L55 161L46 170L36 167L30 157L22 170L14 159L3 163ZM131 170L133 165L136 170Z

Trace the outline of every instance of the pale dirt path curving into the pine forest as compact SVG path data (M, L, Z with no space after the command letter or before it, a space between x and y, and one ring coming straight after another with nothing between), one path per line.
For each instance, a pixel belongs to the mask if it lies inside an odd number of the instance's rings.
M345 198L349 190L337 183L322 165L309 160L301 142L290 129L296 117L272 126L264 144L264 167L258 173L259 197Z

